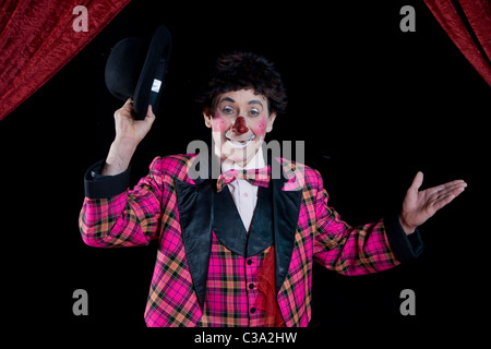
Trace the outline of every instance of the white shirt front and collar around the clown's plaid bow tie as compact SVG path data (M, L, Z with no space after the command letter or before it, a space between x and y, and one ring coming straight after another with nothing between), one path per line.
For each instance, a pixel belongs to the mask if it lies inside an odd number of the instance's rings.
M221 172L230 169L249 170L263 168L265 166L266 164L264 163L263 149L260 147L258 153L255 153L254 157L249 160L246 167L241 167L236 163L223 163ZM255 205L258 204L258 186L249 183L247 180L238 179L228 184L228 190L230 191L243 226L246 227L246 230L249 231L252 216L254 215Z

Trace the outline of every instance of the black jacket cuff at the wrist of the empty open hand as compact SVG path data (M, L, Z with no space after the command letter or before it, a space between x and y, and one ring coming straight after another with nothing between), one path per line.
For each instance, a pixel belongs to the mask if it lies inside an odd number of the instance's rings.
M385 231L388 243L399 262L406 262L418 257L423 251L423 243L419 230L407 236L400 226L397 215L384 218Z

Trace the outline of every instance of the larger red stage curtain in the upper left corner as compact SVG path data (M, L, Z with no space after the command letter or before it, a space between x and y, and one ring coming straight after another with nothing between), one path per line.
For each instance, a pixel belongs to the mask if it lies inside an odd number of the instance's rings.
M0 9L0 120L79 53L129 2L4 1ZM77 5L87 10L86 32L75 31L81 28L77 19L82 13L74 11Z

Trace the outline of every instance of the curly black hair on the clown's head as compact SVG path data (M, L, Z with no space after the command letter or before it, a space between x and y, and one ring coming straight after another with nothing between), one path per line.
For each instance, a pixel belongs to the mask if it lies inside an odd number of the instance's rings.
M268 101L270 112L284 113L287 94L275 65L264 57L251 52L231 52L220 56L208 83L196 101L202 108L213 109L215 98L224 93L253 89Z

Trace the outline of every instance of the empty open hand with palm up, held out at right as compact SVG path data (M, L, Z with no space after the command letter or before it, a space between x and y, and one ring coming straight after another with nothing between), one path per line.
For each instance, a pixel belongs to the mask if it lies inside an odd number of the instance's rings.
M465 181L456 180L419 191L422 181L423 173L416 173L403 202L399 219L407 234L414 232L418 226L427 221L440 208L451 203L467 186Z

